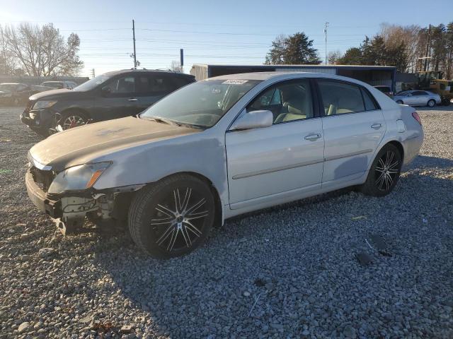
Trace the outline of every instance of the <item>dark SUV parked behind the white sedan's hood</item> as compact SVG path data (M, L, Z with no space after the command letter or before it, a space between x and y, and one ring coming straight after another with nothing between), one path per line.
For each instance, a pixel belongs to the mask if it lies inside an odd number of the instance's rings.
M63 129L133 116L195 78L171 71L123 70L105 73L74 90L47 90L32 95L21 120L48 136L59 122Z

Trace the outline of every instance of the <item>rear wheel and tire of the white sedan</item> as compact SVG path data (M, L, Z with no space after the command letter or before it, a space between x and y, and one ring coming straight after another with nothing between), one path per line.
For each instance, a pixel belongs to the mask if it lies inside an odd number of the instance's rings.
M377 153L368 172L367 181L360 187L368 196L386 196L393 191L401 173L401 153L390 143Z

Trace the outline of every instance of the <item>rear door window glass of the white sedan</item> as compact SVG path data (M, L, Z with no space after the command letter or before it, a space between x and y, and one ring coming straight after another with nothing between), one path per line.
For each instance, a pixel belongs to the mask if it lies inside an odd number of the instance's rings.
M326 115L365 111L360 88L339 81L318 81Z

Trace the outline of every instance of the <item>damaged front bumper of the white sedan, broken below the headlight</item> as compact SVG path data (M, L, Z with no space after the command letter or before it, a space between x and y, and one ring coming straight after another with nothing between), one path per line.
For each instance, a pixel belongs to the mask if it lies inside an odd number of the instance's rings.
M37 174L35 174L35 177ZM105 191L81 191L64 195L47 194L33 175L33 167L25 174L25 186L33 204L52 218L63 234L76 233L84 224L88 213L108 220L115 217L118 194L131 193L143 185L107 189Z

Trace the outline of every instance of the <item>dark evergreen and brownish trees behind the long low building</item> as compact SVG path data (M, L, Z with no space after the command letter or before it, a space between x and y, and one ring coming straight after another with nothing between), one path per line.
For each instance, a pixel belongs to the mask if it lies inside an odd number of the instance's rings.
M304 32L279 35L265 57L265 64L321 64L313 40ZM453 22L447 25L391 25L383 23L377 35L365 36L358 47L345 53L332 51L328 64L396 66L398 72L443 71L453 78Z

